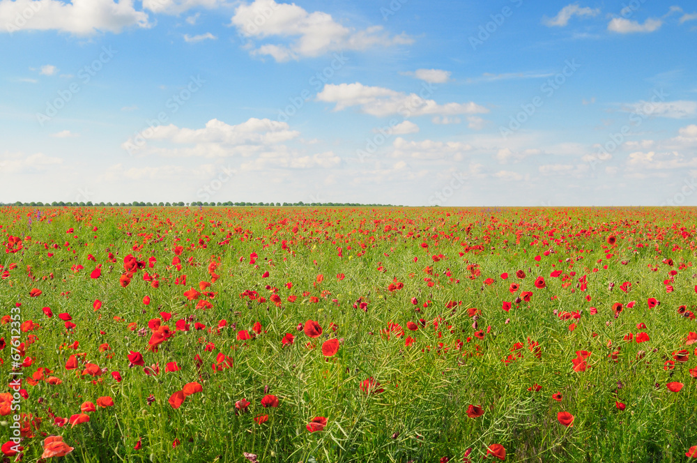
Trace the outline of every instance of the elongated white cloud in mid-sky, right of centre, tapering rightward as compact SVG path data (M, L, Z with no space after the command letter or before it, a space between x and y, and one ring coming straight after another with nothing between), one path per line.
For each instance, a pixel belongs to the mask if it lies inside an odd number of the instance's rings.
M317 94L318 101L336 103L335 111L351 106L359 106L365 114L384 117L400 114L404 117L456 114L477 114L489 112L489 109L475 103L446 103L438 105L434 100L426 100L416 93L402 93L378 86L365 86L360 82L354 84L326 84Z

